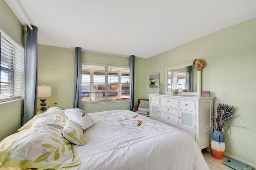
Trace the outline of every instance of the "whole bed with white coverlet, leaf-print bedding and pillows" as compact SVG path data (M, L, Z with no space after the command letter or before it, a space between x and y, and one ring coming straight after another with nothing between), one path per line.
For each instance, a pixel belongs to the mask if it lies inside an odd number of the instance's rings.
M0 167L208 170L193 138L128 110L52 107L0 142Z

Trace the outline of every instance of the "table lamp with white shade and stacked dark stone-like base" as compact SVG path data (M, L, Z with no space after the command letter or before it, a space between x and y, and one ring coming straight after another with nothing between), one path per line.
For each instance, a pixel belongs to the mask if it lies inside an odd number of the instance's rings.
M40 101L42 102L40 105L42 106L40 108L41 112L46 111L47 107L46 106L46 98L44 97L50 97L51 96L51 87L50 86L38 86L37 87L37 97L41 97Z

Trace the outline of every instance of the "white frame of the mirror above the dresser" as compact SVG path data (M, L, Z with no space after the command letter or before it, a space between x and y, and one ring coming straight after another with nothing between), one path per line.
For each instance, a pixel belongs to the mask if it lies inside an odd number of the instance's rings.
M180 69L180 68L184 68L184 67L187 67L187 66L190 66L190 65L193 65L193 62L184 63L184 64L180 64L180 65L174 65L172 67L166 67L165 68L165 87L164 87L164 93L165 94L173 94L171 91L167 91L168 70ZM179 92L178 95L200 96L201 95L201 71L197 71L197 82L196 83L197 83L197 92Z

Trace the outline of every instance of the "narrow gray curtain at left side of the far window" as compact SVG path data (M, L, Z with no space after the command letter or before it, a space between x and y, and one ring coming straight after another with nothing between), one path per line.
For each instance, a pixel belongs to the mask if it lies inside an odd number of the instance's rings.
M76 47L75 51L75 76L74 76L74 103L73 108L81 109L82 90L82 49Z

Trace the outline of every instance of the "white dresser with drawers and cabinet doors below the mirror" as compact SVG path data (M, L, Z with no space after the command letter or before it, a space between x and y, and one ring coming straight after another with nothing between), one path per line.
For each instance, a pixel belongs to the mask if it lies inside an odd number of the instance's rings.
M210 146L214 97L149 94L152 119L188 132L200 149Z

